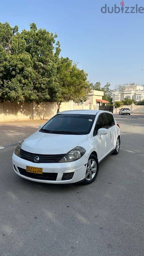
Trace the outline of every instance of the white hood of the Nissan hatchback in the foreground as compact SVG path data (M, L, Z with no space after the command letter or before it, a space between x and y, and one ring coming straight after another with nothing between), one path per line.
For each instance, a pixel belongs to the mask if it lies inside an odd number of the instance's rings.
M21 148L36 154L66 154L76 146L81 146L87 139L87 135L52 134L38 131L28 137L22 143Z

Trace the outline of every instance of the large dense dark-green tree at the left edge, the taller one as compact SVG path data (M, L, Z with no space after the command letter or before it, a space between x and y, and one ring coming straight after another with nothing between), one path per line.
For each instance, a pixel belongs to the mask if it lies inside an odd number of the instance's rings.
M10 101L51 100L56 87L60 43L46 29L18 32L0 23L0 97Z

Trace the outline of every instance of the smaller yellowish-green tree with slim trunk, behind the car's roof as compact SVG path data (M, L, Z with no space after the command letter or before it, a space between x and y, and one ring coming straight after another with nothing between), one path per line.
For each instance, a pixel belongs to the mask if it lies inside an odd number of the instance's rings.
M57 102L58 112L61 102L87 100L91 86L92 84L87 80L87 74L83 69L77 68L76 63L69 58L61 57L57 67L57 91L52 98L52 101Z

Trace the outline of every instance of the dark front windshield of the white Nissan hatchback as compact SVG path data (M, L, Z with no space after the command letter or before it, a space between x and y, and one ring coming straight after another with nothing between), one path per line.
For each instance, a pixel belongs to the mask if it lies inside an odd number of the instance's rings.
M95 115L57 114L40 129L40 132L88 134L92 129L94 119Z

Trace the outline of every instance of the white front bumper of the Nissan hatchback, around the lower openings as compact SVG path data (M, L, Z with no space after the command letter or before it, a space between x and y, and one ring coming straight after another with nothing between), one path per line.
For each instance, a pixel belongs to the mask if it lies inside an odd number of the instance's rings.
M32 163L30 161L22 159L22 158L16 156L14 153L12 155L12 163L15 165L16 170L15 170L14 166L13 166L13 169L17 175L19 175L20 177L27 179L27 180L32 180L32 181L42 182L42 183L52 183L52 184L68 184L68 183L76 183L76 182L79 182L80 180L84 180L87 162L88 162L87 157L83 156L75 162L37 164L37 163ZM40 179L34 179L34 178L30 178L30 177L20 174L18 167L26 170L27 165L32 166L32 167L43 168L43 173L44 172L58 173L57 179L56 180L40 180ZM67 172L74 172L72 179L71 180L62 180L63 173L67 173Z

